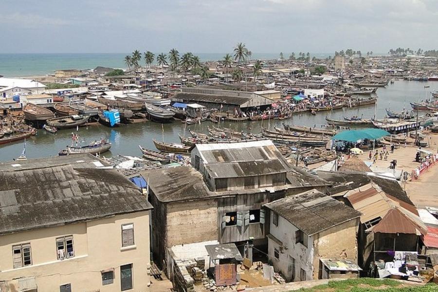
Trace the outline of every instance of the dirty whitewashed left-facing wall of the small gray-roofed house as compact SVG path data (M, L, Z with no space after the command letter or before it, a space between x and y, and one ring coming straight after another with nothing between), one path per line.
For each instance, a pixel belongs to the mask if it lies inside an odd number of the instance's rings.
M298 230L291 222L278 216L278 226L273 223L274 212L269 212L271 217L270 234L276 240L268 237L268 256L272 261L274 270L281 272L287 281L300 281L300 271L306 273L306 280L313 277L313 238L307 237L307 246L295 243L295 232ZM279 258L275 258L274 249L280 251ZM292 264L295 259L295 265Z

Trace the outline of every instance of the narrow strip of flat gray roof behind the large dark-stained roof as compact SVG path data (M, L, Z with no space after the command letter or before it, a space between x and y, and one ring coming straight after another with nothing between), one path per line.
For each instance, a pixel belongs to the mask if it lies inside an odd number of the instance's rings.
M74 168L97 168L110 165L91 154L75 154L2 162L0 163L0 171L20 171L69 164L72 164Z

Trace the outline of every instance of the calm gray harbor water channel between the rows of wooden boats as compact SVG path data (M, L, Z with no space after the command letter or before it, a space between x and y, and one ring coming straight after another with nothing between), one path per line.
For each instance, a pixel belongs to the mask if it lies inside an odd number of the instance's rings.
M425 88L425 86L430 86ZM301 126L316 126L318 128L325 124L326 115L333 119L343 119L343 116L361 116L364 119L372 118L376 113L377 118L385 116L385 108L392 111L402 111L403 109L411 110L410 102L419 102L427 98L431 98L430 91L438 91L438 82L419 82L419 81L395 81L393 84L388 84L385 88L377 90L378 102L377 107L374 105L343 108L333 111L321 111L316 115L311 115L306 112L301 115L294 115L290 119L285 120L265 120L258 122L224 122L223 127L233 128L235 130L249 131L259 133L261 127L274 128L282 127L282 123L295 124ZM422 113L420 112L420 115ZM132 155L141 156L139 145L151 150L155 150L153 139L167 143L180 142L178 134L188 136L188 129L196 132L207 132L207 126L212 126L212 123L207 121L195 125L185 127L185 125L175 120L169 124L159 124L154 122L146 122L139 124L120 125L116 128L108 128L103 125L93 125L79 128L77 134L80 140L84 141L81 145L86 145L94 140L107 138L112 143L109 152L103 156L111 155ZM56 156L57 153L67 145L72 145L72 132L76 133L76 129L59 130L55 134L46 132L43 129L38 130L38 134L26 140L26 156L27 158L39 158ZM23 150L23 141L12 144L0 145L0 161L11 161L17 158Z

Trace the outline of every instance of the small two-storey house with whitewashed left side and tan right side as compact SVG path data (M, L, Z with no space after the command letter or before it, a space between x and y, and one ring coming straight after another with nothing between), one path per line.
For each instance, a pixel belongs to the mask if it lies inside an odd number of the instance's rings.
M288 281L321 279L321 259L357 264L360 212L314 189L264 207L270 211L268 256Z

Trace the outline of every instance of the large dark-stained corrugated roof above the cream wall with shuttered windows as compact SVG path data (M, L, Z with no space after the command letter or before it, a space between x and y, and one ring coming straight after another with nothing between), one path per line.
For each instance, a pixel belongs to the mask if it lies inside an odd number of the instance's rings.
M112 169L61 165L0 172L0 234L151 208L139 188Z

